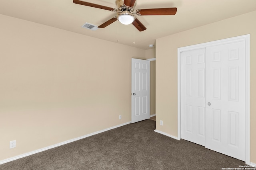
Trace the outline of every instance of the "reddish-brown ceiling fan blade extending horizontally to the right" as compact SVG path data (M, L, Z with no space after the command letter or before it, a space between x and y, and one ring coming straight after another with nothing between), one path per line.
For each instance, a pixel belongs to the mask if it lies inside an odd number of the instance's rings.
M151 15L175 15L177 8L154 8L154 9L142 9L136 11L138 15L151 16Z

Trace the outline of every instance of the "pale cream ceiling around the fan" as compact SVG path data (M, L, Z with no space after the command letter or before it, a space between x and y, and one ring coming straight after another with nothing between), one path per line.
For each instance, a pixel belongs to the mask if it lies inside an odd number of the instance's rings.
M115 0L84 0L117 8ZM160 37L256 10L256 0L137 0L137 9L178 8L174 16L136 16L147 28L139 32L118 21L96 31L82 28L88 22L101 25L115 12L74 4L73 0L1 0L0 14L88 35L120 44L150 49ZM254 21L255 22L255 21ZM17 27L18 29L18 27Z

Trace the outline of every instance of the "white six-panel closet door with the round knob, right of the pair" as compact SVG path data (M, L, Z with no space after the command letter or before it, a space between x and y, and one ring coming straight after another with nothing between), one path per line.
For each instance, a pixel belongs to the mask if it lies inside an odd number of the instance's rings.
M206 148L245 160L245 42L206 48Z

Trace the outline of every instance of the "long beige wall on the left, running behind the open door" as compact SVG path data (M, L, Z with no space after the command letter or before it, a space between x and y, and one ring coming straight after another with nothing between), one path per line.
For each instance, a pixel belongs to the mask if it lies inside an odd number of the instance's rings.
M131 121L130 63L146 59L145 50L3 15L0 22L0 160Z

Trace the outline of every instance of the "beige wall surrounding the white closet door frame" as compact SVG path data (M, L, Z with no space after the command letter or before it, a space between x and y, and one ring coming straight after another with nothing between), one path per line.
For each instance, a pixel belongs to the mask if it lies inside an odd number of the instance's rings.
M250 34L250 162L256 163L256 11L156 40L156 129L177 137L177 49ZM160 126L160 120L164 125Z

